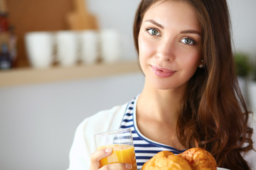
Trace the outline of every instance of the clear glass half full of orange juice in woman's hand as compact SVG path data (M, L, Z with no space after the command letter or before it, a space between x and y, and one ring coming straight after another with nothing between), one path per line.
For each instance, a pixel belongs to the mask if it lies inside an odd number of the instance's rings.
M137 170L131 129L119 129L95 135L97 149L112 148L112 154L100 160L100 167L112 163L132 164Z

